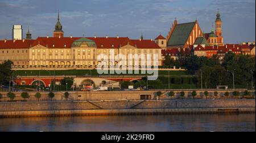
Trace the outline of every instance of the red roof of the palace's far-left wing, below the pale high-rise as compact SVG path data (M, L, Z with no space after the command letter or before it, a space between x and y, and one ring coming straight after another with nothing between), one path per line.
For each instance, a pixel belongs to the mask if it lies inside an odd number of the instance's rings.
M29 48L35 40L0 40L0 49Z

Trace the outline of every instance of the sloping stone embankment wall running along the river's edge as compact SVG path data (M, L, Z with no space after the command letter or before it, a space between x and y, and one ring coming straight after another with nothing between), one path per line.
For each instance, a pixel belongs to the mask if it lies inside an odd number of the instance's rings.
M255 99L0 102L0 117L255 113Z

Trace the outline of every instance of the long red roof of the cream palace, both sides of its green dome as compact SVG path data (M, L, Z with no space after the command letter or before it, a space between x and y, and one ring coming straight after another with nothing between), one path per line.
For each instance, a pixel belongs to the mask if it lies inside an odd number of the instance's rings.
M131 40L129 37L86 37L96 43L97 48L119 48L127 44L137 48L154 48L160 47L152 40ZM38 37L36 40L13 40L0 41L0 48L29 48L38 44L48 48L71 48L72 43L81 37Z

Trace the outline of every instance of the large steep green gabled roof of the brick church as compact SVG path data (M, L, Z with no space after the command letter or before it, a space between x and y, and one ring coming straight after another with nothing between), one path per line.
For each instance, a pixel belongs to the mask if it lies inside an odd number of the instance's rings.
M168 46L184 45L196 22L177 24L167 42Z

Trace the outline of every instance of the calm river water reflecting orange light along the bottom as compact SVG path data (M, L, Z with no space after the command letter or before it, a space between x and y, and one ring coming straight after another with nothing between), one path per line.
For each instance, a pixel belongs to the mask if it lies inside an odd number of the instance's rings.
M0 119L0 131L255 132L255 113L9 118Z

